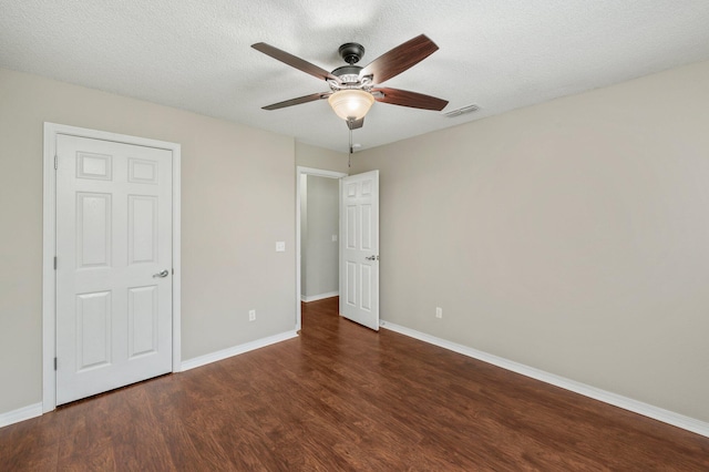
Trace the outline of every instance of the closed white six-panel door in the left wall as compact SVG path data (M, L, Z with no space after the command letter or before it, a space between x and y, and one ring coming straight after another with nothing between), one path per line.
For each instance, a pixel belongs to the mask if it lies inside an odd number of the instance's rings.
M172 152L56 140L62 404L172 370Z

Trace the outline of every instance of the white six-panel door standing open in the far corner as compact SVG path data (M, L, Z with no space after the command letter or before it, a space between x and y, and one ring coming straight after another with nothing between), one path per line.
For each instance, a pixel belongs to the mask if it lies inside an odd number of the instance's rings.
M379 171L340 179L340 315L379 330Z

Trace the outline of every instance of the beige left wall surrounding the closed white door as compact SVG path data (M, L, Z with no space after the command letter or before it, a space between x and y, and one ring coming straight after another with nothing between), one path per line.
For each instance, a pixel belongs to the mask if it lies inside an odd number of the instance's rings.
M295 329L292 138L0 69L0 413L41 401L45 121L182 144L183 360Z

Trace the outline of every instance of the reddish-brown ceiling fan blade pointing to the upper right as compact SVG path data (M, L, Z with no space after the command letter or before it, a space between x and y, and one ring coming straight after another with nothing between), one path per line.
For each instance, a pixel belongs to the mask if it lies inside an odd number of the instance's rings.
M374 59L361 70L359 76L372 75L372 82L382 83L423 61L438 49L425 34L418 35Z

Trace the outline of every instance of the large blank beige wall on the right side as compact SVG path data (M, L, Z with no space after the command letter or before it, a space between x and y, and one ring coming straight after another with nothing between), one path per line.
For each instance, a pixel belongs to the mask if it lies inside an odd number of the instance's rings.
M709 421L708 105L703 62L356 154L382 318Z

